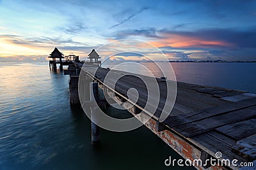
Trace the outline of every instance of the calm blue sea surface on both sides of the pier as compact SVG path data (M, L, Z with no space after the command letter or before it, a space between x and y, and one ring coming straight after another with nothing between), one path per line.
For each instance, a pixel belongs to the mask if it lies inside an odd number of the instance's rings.
M145 66L157 74L152 63ZM178 81L256 93L256 63L172 66ZM146 127L122 133L101 129L100 145L92 146L88 118L80 108L70 108L68 80L63 72L52 73L46 63L0 63L1 170L173 169L164 167L164 160L180 156Z

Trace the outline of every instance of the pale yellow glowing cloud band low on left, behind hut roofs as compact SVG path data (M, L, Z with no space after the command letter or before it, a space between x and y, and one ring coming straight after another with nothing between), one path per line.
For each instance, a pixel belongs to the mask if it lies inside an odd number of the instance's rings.
M55 46L65 55L74 52L76 55L82 55L82 57L83 55L87 55L93 48L97 48L97 46L74 41L71 38L23 38L17 35L3 34L0 35L0 58L1 61L10 62L15 62L15 60L42 62L44 59L38 58L38 56L48 57ZM28 56L27 59L25 58L26 55Z

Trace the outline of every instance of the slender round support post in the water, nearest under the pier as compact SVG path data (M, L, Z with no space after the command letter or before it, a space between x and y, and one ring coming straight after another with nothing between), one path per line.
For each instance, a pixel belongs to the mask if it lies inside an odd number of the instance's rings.
M93 101L93 97L97 101L98 99L98 83L90 83L90 100ZM97 107L91 108L91 126L92 126L92 145L99 143L99 126L97 125Z

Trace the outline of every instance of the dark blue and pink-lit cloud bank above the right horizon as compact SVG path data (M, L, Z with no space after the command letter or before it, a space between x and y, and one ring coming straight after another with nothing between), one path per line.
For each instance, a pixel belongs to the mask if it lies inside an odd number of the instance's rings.
M256 29L198 29L176 31L173 29L129 29L115 33L113 39L148 39L168 58L174 60L255 60ZM148 48L148 46L140 46ZM147 55L147 53L143 53Z

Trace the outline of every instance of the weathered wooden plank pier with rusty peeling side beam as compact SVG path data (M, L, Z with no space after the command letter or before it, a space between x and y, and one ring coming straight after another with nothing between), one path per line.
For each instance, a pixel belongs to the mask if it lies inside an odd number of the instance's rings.
M131 88L137 89L139 99L132 103L128 111L132 115L140 114L138 119L143 120L150 117L143 110L147 101L147 87L136 75L129 75L124 71L115 70L116 74L124 74L115 83L114 89L105 86L104 78L110 71L95 66L83 66L81 62L74 62L65 74L70 74L70 103L79 103L77 92L79 73L81 69L88 78L99 83L99 87L108 91L109 96L115 94L120 104L124 101L130 102L127 91ZM161 78L145 76L148 80L156 79L161 88L161 99L153 117L145 125L154 134L161 138L173 150L184 159L202 160L216 158L216 153L221 152L222 157L218 160L228 159L241 162L254 162L256 164L256 95L249 92L224 89L220 87L208 87L177 82L177 98L172 112L164 120L159 122L159 116L166 103L166 81ZM90 95L90 94L88 94ZM78 101L77 101L78 100ZM157 155L155 155L157 156ZM164 160L163 160L164 161ZM224 161L225 162L225 161ZM240 169L233 164L222 166L211 166L211 164L196 164L197 169ZM245 168L245 167L243 167Z

